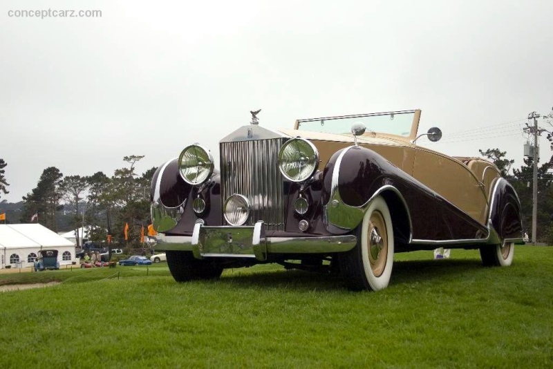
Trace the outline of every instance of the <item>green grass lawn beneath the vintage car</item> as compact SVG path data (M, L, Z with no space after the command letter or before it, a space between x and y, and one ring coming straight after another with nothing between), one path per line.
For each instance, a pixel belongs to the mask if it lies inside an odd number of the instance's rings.
M377 293L278 265L194 283L165 263L1 275L62 283L0 293L0 367L551 367L553 247L517 246L503 268L431 258L396 255Z

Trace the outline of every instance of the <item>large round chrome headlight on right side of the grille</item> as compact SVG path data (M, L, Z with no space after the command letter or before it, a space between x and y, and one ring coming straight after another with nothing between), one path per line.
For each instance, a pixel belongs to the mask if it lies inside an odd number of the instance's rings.
M319 167L319 151L303 138L292 138L281 147L279 168L282 175L292 182L303 182Z

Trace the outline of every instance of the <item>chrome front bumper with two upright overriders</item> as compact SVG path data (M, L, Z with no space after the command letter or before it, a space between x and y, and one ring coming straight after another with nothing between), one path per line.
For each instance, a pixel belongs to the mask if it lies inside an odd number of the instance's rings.
M267 260L267 254L320 254L353 249L353 235L323 237L265 237L263 222L254 226L204 226L198 221L192 236L157 236L156 251L191 251L196 258L232 257Z

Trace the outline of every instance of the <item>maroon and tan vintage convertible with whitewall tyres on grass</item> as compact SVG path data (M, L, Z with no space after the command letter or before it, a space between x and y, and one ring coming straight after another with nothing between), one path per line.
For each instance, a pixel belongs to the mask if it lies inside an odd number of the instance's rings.
M420 110L297 120L265 129L252 112L219 144L190 144L151 185L156 250L176 281L257 263L340 272L352 290L381 290L396 252L479 249L510 265L522 242L518 196L481 158L417 145Z

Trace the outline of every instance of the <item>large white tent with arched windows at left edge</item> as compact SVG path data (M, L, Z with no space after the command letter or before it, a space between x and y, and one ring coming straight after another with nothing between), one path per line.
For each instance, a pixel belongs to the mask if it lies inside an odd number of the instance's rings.
M59 265L75 258L75 245L43 225L0 224L0 269L32 267L41 249L57 250Z

